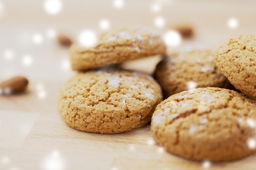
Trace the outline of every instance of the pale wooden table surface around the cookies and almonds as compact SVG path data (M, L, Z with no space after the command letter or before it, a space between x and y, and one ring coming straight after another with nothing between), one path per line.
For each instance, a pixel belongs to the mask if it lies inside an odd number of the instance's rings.
M175 0L126 0L123 9L112 7L112 1L63 0L57 15L48 15L43 1L0 0L0 81L14 75L29 78L25 94L0 96L0 170L256 170L256 154L225 163L188 161L166 153L155 143L150 124L126 133L102 135L85 133L68 127L57 109L60 87L76 72L68 68L68 51L47 36L47 30L70 35L76 41L80 31L101 30L102 18L115 26L150 26L155 17L165 18L163 32L172 25L189 23L196 34L172 51L185 48L215 48L231 34L256 34L255 1L214 2ZM161 4L153 13L150 5ZM0 6L1 7L1 6ZM0 8L1 10L1 8ZM0 11L1 14L1 11ZM227 21L235 17L238 27ZM43 36L40 44L33 35ZM9 51L9 57L7 55ZM10 57L11 51L11 57ZM24 65L24 56L31 65ZM154 70L157 58L148 59ZM127 64L132 68L147 67L145 61Z

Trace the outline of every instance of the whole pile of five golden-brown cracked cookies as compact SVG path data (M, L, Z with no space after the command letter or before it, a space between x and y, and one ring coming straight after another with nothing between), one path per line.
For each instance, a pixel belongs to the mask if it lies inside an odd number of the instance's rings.
M152 118L153 137L175 155L239 159L256 151L251 144L256 135L255 46L256 37L241 35L231 37L217 54L193 50L167 55L154 79L99 67L166 55L161 35L146 28L103 33L91 48L70 48L72 69L79 73L61 89L59 111L70 127L93 133L130 131ZM227 89L235 89L229 81L249 97Z

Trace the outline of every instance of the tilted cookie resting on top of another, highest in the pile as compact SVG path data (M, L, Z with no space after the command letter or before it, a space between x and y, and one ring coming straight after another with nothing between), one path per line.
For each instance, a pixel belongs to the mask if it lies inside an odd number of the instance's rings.
M70 63L73 70L88 70L102 65L164 54L166 45L161 35L150 28L119 28L99 37L98 43L86 48L73 45Z

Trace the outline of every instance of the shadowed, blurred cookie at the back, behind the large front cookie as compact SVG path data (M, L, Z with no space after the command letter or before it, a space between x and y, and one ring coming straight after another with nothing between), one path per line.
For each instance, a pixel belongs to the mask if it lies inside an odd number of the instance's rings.
M164 97L197 87L224 87L227 78L214 66L212 50L172 54L157 64L154 77Z

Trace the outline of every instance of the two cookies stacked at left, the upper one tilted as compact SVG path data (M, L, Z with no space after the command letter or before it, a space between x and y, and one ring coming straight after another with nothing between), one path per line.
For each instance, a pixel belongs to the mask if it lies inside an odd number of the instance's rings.
M149 28L103 33L91 48L73 45L71 67L80 72L61 89L61 116L70 127L85 132L121 133L144 126L162 101L159 84L140 72L89 69L165 51L161 35Z

